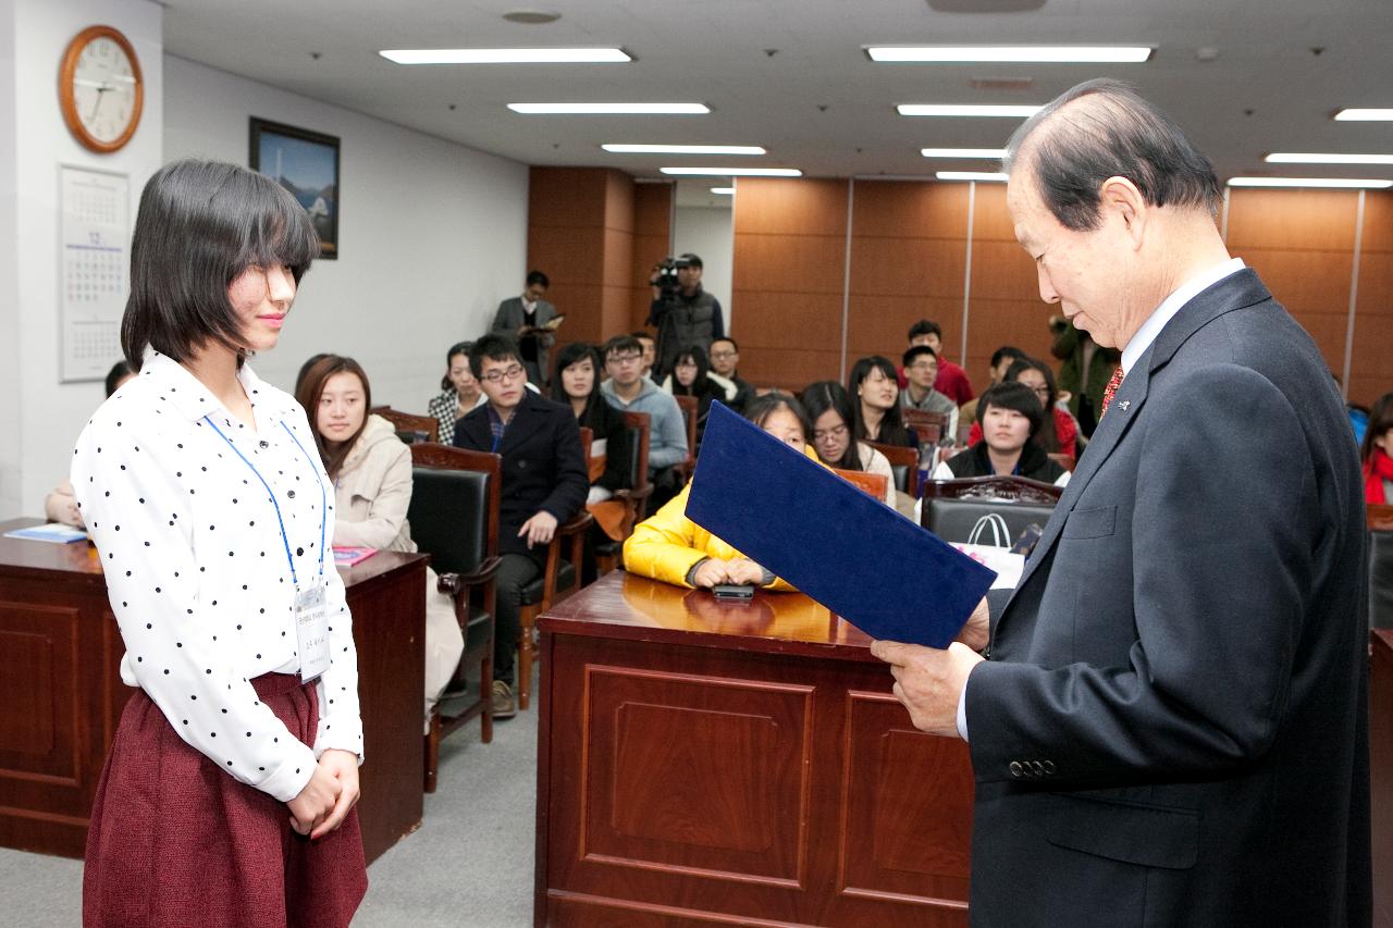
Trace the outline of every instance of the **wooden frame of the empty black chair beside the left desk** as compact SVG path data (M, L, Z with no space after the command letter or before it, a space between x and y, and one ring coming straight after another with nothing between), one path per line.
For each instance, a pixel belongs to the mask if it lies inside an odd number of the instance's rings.
M426 733L425 745L425 791L435 793L436 771L440 765L440 741L450 733L468 725L475 716L479 718L481 740L485 744L493 741L493 637L495 620L497 616L497 573L499 573L499 509L503 502L503 458L488 451L469 451L439 443L419 443L411 446L411 464L414 467L432 467L437 470L481 471L489 475L489 503L486 516L486 545L485 559L469 573L440 574L437 589L454 601L454 617L460 623L460 633L468 640L469 602L471 596L478 596L479 608L489 614L488 641L479 645L475 652L482 652L479 659L479 698L471 702L464 712L444 716L440 705L436 704L430 712L430 729ZM451 683L462 683L465 666L471 654L467 651L460 656L460 665L454 670Z

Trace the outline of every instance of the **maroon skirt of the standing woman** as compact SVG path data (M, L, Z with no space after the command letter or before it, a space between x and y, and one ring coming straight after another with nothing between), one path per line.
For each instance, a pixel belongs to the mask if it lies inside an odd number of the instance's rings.
M269 673L256 695L309 744L315 684ZM85 925L347 925L368 889L358 812L311 842L284 803L191 748L145 691L121 712L96 789Z

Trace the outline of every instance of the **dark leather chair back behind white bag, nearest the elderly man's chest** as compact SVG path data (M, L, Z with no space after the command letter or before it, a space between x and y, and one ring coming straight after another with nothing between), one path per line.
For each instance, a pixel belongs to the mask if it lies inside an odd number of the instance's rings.
M1029 525L1043 528L1059 497L1059 486L1024 477L926 481L919 524L943 541L967 542L978 520L995 513L1015 541Z

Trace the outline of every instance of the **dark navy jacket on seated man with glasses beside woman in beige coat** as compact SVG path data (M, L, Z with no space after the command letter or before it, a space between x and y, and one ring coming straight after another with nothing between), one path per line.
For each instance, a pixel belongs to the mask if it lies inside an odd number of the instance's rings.
M488 405L456 424L454 446L493 450ZM581 453L581 431L571 408L524 390L497 453L503 456L499 550L529 555L545 564L546 548L528 549L518 529L543 509L556 516L557 523L567 521L585 504L591 488Z

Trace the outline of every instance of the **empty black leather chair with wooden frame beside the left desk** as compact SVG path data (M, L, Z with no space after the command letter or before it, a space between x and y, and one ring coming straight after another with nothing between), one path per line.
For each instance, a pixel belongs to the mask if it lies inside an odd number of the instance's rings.
M421 443L411 446L411 538L430 555L440 575L439 589L454 601L464 634L464 655L453 684L464 683L468 666L479 666L479 697L458 713L446 716L437 704L430 715L425 790L433 793L443 737L478 716L483 743L493 740L490 691L503 461L486 451Z

